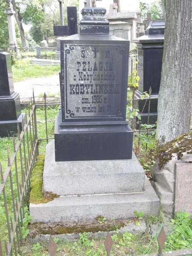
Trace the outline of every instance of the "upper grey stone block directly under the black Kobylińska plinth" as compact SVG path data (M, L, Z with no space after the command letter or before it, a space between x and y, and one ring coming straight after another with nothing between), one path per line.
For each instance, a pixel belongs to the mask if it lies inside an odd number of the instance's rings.
M57 195L143 192L145 171L133 153L127 160L55 162L54 141L47 144L44 190Z

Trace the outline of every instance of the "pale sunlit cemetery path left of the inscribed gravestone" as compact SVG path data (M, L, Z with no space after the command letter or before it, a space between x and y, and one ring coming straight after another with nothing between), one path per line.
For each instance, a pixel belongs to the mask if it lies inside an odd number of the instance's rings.
M47 96L55 96L60 93L59 75L38 77L33 79L27 79L25 81L14 82L15 92L20 94L20 102L29 102L34 90L35 97L43 96L44 93Z

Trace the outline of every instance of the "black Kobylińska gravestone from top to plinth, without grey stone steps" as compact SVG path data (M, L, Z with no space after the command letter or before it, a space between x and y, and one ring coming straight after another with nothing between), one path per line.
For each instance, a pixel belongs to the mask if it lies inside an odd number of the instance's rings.
M131 159L125 121L129 41L108 35L105 9L82 10L80 35L61 40L55 161Z

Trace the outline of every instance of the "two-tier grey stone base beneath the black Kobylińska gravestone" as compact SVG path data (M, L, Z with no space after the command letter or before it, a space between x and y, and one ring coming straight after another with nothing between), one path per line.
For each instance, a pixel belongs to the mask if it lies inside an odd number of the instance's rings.
M134 210L158 215L159 199L137 158L55 162L54 142L47 144L44 190L57 192L47 204L30 204L36 222L91 221L96 216L130 218Z

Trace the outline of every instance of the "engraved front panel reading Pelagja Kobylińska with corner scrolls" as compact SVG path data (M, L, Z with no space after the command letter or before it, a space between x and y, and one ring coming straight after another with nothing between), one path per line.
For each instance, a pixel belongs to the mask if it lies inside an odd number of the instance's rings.
M125 120L128 42L61 42L62 122Z

